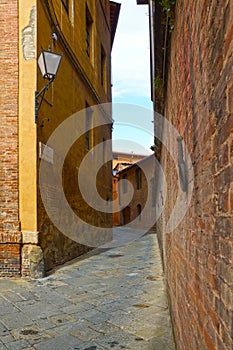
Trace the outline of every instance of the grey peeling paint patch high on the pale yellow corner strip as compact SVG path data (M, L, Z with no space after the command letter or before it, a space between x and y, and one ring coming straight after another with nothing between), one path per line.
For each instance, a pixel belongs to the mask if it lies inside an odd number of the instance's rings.
M33 6L30 12L28 25L22 30L22 50L25 60L31 60L36 56L36 47L34 43L36 30L36 6Z

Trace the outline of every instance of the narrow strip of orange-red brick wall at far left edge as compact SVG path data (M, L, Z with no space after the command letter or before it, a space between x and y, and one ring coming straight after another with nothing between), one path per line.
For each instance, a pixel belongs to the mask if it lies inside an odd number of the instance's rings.
M0 276L20 273L18 221L18 1L0 3Z

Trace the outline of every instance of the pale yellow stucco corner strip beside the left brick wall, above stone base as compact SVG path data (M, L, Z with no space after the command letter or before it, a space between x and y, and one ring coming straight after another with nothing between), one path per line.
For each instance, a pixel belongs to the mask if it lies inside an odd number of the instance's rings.
M21 230L37 231L36 1L19 1L19 219Z

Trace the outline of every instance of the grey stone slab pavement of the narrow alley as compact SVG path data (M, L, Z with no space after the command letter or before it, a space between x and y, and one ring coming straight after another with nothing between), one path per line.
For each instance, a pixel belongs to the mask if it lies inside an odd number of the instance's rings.
M174 350L157 236L0 280L0 349Z

